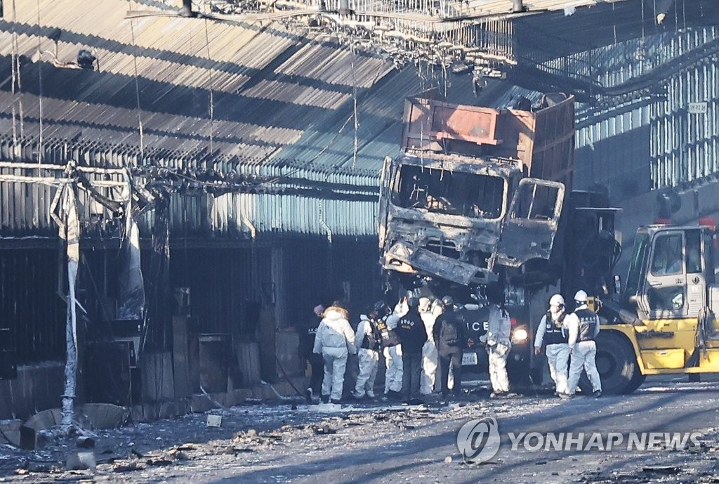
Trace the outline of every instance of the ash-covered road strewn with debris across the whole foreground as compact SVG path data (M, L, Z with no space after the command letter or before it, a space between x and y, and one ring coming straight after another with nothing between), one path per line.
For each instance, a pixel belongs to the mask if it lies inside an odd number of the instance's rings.
M94 471L63 470L74 439L32 452L3 446L0 482L719 483L719 383L685 380L650 378L630 396L571 401L480 393L450 406L237 406L222 412L220 427L207 426L207 414L191 414L95 432ZM488 462L468 464L457 432L485 417L498 421L500 449ZM535 439L531 449L512 449L522 432L695 432L699 442L645 451L535 450Z

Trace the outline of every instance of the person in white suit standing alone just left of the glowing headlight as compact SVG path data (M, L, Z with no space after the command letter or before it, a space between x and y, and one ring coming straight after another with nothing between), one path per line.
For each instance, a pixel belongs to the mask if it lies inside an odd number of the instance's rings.
M480 337L480 341L487 345L492 397L497 398L509 395L507 356L512 347L510 339L512 323L504 306L504 294L501 288L487 288L487 299L490 303L489 324L487 333Z

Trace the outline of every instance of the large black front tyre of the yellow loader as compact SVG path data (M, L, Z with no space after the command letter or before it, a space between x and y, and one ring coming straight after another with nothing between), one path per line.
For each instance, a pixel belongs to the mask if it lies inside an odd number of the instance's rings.
M597 335L597 371L602 380L602 392L611 395L631 393L641 385L634 350L624 337L613 332ZM631 388L632 385L634 388Z

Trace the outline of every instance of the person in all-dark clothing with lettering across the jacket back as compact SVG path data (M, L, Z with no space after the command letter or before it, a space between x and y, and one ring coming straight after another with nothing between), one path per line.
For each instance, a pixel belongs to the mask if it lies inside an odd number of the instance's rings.
M407 306L409 311L397 323L397 336L402 344L402 396L405 403L422 403L419 390L427 331L419 314L419 299L408 298Z

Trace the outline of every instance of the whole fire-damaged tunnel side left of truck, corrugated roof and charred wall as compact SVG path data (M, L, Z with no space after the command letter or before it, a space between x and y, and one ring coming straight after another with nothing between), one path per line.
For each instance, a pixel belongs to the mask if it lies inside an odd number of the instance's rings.
M0 419L293 391L298 321L375 297L375 153L424 81L281 25L83 13L1 21Z

